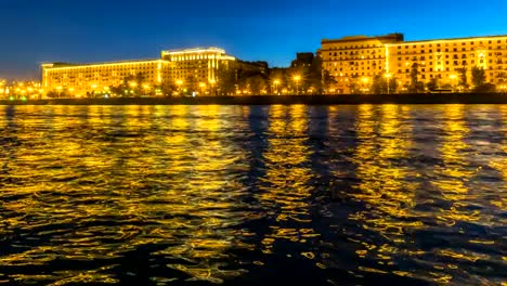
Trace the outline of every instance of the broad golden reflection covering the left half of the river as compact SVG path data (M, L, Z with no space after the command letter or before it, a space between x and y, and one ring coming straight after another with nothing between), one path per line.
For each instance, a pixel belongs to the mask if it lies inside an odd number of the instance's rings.
M27 107L26 113L37 114L38 108ZM152 255L185 261L168 268L194 280L220 283L243 273L222 269L221 261L231 246L242 247L233 226L244 219L235 210L240 208L244 187L239 177L231 173L247 167L243 150L227 136L234 129L246 128L242 122L219 119L218 107L212 106L51 108L55 119L50 125L37 117L22 122L28 130L40 127L40 133L9 127L9 118L0 121L13 139L39 142L31 148L13 147L11 159L2 156L6 176L17 178L2 183L2 233L23 230L28 239L39 243L29 247L14 239L15 251L0 256L0 264L120 259L154 244L170 245ZM207 117L196 117L203 113ZM155 119L147 120L152 115ZM107 221L117 223L105 225ZM14 278L20 283L117 282L103 271Z

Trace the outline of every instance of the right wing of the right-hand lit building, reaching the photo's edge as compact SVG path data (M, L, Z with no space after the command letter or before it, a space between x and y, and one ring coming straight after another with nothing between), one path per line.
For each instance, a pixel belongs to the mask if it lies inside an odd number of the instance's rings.
M473 37L386 44L386 73L399 80L401 89L411 84L416 64L421 82L437 79L441 86L456 88L460 73L472 86L472 68L484 69L486 82L500 86L506 80L507 36Z

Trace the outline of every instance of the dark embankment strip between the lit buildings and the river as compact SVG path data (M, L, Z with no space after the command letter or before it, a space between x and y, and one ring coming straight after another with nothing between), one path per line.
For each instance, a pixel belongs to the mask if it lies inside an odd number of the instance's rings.
M0 101L0 105L507 104L506 93L251 95Z

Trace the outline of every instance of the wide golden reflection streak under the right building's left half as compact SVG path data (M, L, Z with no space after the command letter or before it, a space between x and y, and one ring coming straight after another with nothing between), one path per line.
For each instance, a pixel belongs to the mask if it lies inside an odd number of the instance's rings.
M408 125L411 107L384 105L379 107L380 110L374 108L369 105L359 106L359 145L353 160L358 166L360 183L355 186L358 191L350 196L365 204L365 209L350 214L349 219L372 231L373 235L385 238L355 238L363 246L362 250L356 251L358 255L374 259L379 268L385 268L392 265L393 256L408 251L407 233L422 227L422 223L413 210L417 185L406 180L413 176L405 165L412 145L412 126ZM358 235L360 233L363 232Z

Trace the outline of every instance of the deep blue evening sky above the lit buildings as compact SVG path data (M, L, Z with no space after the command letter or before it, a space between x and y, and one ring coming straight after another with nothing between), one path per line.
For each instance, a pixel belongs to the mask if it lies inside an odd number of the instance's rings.
M37 78L42 62L208 46L286 66L323 38L505 35L506 12L506 0L0 0L0 78Z

